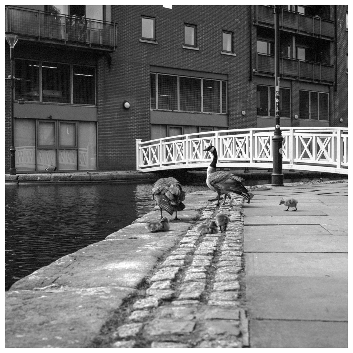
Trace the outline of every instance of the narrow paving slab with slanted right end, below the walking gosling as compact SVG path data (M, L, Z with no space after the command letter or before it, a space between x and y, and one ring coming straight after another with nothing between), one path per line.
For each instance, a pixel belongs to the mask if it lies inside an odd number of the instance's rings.
M277 217L277 220L281 222L281 217ZM306 224L306 225L295 225L295 224L282 224L279 225L257 225L257 226L244 226L246 232L245 242L247 236L256 236L257 234L272 234L272 235L324 235L331 234L325 228L319 224Z

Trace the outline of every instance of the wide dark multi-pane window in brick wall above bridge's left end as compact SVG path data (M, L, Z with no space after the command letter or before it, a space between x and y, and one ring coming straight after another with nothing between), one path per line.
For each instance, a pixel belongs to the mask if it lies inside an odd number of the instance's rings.
M227 113L227 82L151 73L151 109Z

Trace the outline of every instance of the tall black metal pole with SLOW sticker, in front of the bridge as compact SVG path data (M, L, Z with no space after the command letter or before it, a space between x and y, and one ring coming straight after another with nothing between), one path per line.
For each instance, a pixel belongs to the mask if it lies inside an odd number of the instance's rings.
M283 185L282 173L282 141L283 136L280 125L280 22L279 22L279 5L275 5L275 116L276 127L273 133L273 173L272 186Z

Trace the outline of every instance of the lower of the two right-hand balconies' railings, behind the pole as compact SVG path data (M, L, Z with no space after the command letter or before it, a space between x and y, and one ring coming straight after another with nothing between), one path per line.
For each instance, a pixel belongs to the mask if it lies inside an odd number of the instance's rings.
M256 71L259 75L273 76L275 57L257 53ZM333 84L335 78L333 65L288 58L280 58L280 75L283 78L328 84Z

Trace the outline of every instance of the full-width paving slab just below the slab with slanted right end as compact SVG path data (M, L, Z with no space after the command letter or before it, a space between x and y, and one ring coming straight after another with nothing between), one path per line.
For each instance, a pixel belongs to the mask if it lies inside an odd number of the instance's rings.
M346 235L248 234L246 252L347 252Z

